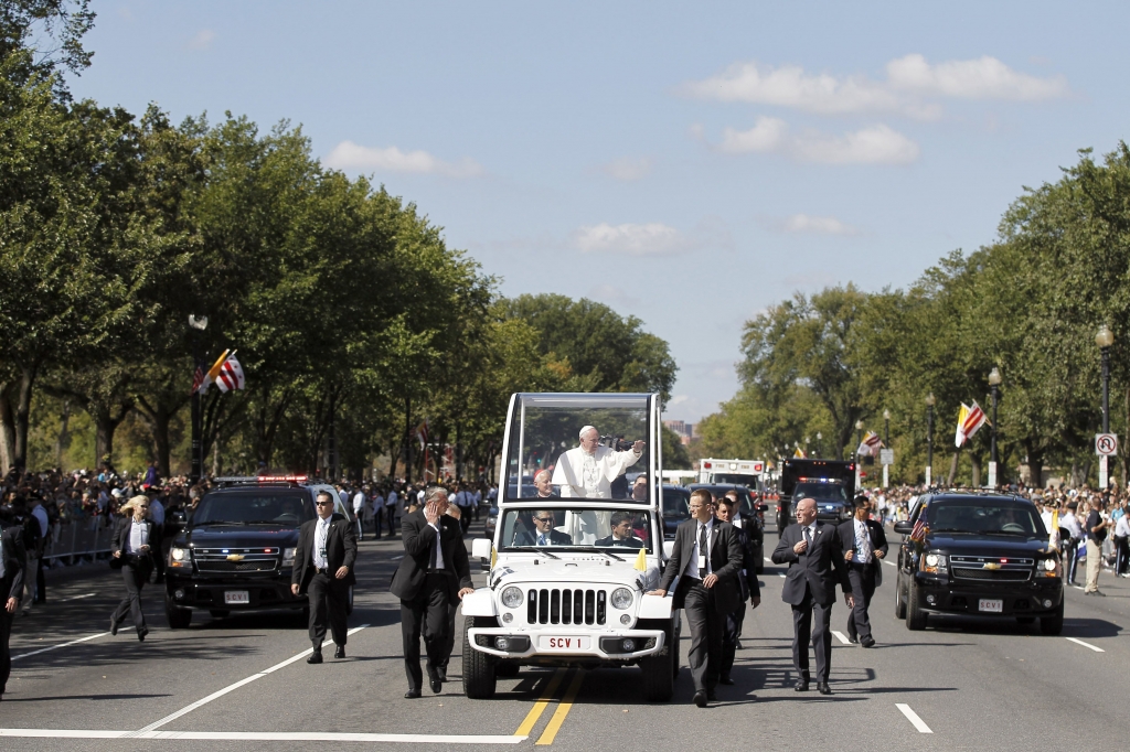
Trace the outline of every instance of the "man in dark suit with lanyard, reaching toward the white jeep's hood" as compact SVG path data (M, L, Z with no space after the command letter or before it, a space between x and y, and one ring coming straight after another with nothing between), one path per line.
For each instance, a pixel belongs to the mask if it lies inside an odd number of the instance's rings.
M690 519L675 531L675 549L659 589L649 595L667 595L678 578L671 606L686 611L694 702L705 708L707 701L718 699L714 688L721 675L725 615L741 605L741 544L733 525L714 518L710 491L694 491L688 509Z

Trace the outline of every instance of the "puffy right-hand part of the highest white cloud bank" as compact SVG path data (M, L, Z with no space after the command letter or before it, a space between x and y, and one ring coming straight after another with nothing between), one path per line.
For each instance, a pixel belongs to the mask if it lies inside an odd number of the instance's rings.
M897 89L962 99L1040 102L1070 94L1063 76L1028 76L989 55L935 65L922 55L906 55L887 63L887 79Z

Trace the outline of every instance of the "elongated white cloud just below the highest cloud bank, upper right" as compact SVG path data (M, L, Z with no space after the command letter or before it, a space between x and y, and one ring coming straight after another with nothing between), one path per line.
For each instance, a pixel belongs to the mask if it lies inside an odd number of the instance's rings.
M792 133L783 120L767 116L758 117L748 131L727 128L719 148L731 154L782 154L825 165L906 165L920 154L918 143L884 124L843 135L811 130Z

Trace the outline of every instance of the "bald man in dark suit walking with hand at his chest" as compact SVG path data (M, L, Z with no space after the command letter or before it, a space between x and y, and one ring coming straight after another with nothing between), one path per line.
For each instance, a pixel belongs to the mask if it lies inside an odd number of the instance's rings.
M836 583L843 587L849 607L853 601L840 535L834 525L816 519L815 499L800 500L797 524L784 528L771 558L773 563L789 565L781 600L792 605L792 663L799 674L796 690L808 691L808 640L811 636L816 653L816 689L820 694L832 694L828 671L832 665L831 623Z

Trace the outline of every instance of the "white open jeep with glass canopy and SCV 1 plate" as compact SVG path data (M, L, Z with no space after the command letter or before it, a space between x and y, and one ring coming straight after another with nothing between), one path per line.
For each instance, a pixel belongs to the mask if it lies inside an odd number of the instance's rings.
M646 699L671 698L678 611L646 595L666 560L662 484L621 482L629 467L661 478L660 417L657 394L511 397L498 522L472 543L487 586L462 601L467 697L494 696L522 666L638 666ZM601 432L632 440L596 446ZM527 480L539 456L553 464L540 487Z

